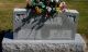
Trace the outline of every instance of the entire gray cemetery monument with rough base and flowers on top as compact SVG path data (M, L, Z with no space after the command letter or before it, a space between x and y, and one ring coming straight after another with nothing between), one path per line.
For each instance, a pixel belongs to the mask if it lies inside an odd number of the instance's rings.
M3 52L84 52L77 34L79 12L61 0L26 0L13 10L13 40L3 39Z

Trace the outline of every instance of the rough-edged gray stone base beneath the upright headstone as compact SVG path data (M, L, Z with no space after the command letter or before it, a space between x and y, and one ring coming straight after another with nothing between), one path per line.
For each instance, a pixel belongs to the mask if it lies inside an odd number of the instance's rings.
M3 52L84 52L86 43L79 34L75 40L3 39Z

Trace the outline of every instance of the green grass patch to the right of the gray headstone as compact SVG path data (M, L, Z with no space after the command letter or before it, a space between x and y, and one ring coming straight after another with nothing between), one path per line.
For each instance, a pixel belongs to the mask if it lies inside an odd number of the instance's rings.
M70 9L79 12L77 31L88 36L88 0L66 0Z

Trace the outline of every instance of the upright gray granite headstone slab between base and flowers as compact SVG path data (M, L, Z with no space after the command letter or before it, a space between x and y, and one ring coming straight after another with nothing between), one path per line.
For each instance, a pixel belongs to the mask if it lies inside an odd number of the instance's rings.
M76 10L67 10L65 13L56 14L53 18L45 20L42 16L36 16L36 18L29 20L25 9L14 9L13 38L29 40L74 39L77 16ZM22 22L23 20L26 22Z

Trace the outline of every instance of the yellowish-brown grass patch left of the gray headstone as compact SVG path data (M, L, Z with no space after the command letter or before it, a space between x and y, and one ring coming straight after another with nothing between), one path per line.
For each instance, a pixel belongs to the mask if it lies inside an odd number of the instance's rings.
M0 0L0 30L12 29L13 8L24 5L24 0Z

